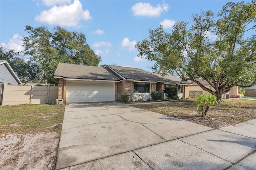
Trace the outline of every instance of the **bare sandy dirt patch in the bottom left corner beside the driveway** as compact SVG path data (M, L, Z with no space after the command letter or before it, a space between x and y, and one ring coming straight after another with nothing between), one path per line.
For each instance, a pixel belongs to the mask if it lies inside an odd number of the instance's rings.
M0 169L54 169L59 139L57 132L1 134Z

